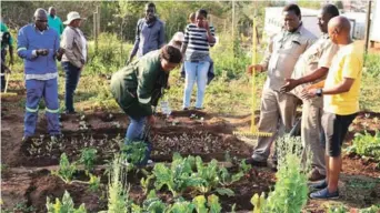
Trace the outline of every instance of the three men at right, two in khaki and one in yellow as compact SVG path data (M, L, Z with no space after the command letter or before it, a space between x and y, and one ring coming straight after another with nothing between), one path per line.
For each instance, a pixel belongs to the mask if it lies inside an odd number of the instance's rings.
M352 41L349 20L333 4L324 6L318 16L322 32L318 39L302 24L297 4L284 7L282 17L283 29L271 39L264 59L248 69L268 73L258 129L273 136L259 136L246 162L267 165L272 143L293 128L297 105L302 102L302 160L311 158L309 180L316 190L310 197L336 199L341 145L359 111L363 47ZM274 164L276 158L274 153Z

